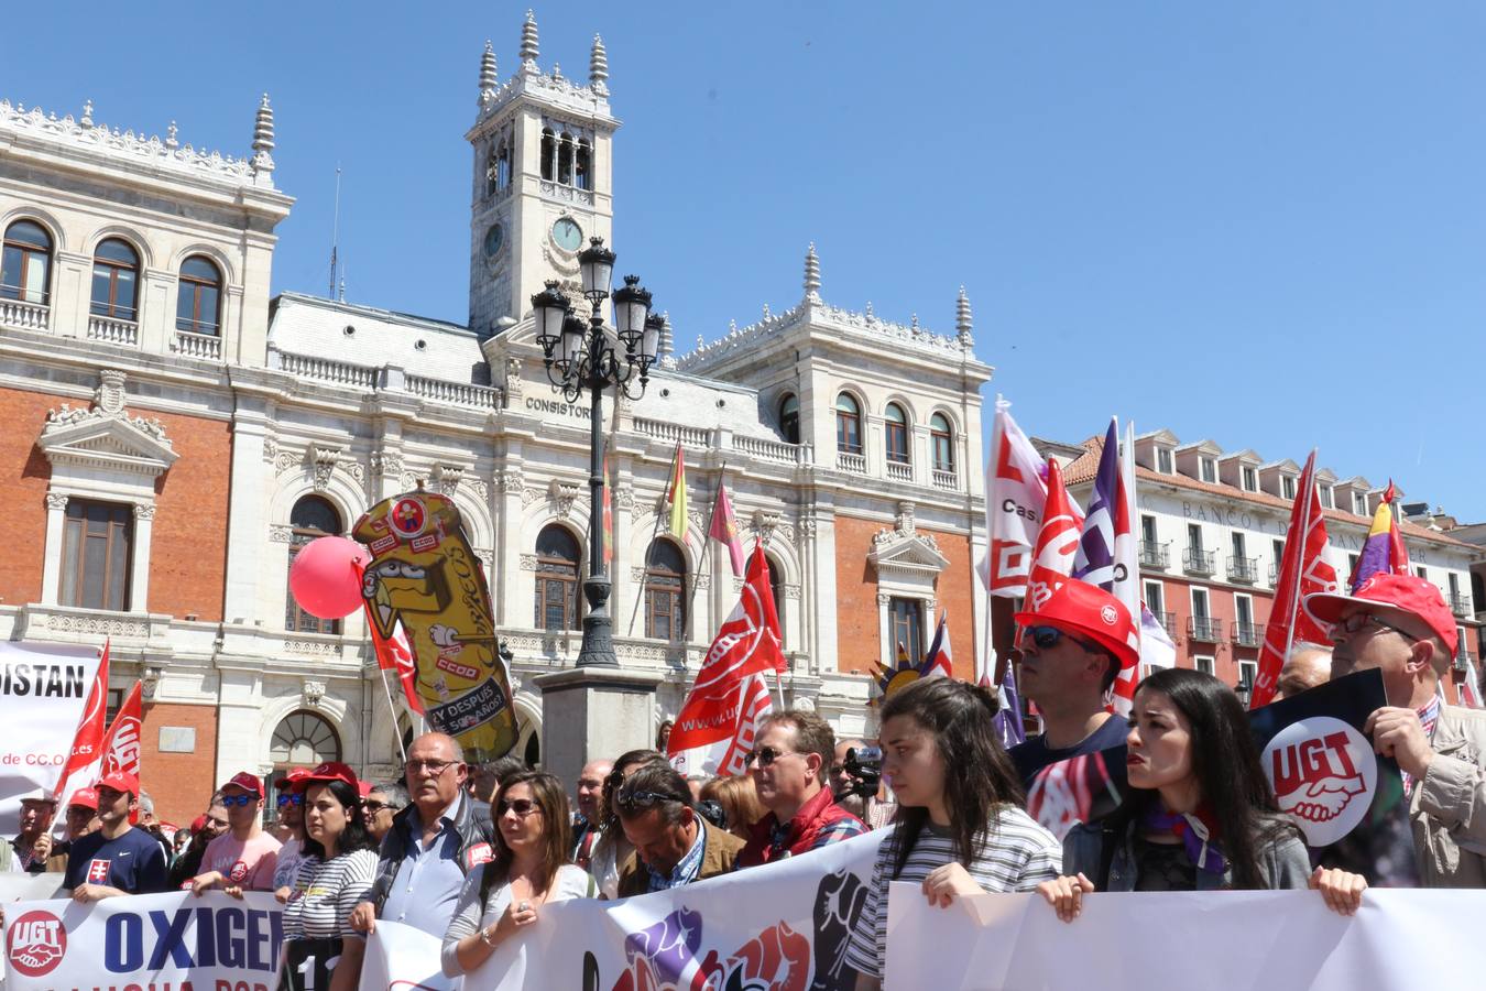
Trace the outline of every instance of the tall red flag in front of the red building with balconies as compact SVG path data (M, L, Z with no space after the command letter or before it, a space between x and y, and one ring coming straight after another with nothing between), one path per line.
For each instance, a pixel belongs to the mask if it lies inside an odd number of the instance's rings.
M1259 651L1259 676L1248 695L1248 707L1268 706L1275 697L1275 682L1285 655L1296 640L1328 643L1330 636L1312 620L1300 600L1317 591L1336 591L1336 569L1326 563L1326 514L1315 487L1315 452L1305 462L1300 489L1290 508L1285 550L1279 556L1275 581L1275 605L1265 628L1265 645Z

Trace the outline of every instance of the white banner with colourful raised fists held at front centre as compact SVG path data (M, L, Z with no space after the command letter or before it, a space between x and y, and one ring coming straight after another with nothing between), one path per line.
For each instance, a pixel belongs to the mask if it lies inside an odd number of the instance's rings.
M465 987L553 991L811 988L851 991L846 942L866 900L883 831L709 881L626 899L547 905ZM361 991L407 991L438 975L440 940L407 927L373 936Z

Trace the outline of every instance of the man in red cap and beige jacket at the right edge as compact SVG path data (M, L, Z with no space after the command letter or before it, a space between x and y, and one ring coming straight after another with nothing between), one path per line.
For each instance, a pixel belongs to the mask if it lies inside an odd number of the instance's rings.
M1459 630L1444 596L1415 575L1378 572L1352 596L1305 597L1331 628L1331 678L1378 669L1388 704L1363 728L1398 762L1424 887L1486 887L1486 712L1446 706Z

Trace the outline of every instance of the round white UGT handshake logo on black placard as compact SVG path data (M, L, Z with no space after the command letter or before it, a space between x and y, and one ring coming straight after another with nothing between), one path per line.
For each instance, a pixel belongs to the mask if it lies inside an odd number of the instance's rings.
M1306 845L1336 842L1373 804L1373 749L1340 719L1312 716L1285 727L1265 747L1263 762L1279 810L1300 825Z

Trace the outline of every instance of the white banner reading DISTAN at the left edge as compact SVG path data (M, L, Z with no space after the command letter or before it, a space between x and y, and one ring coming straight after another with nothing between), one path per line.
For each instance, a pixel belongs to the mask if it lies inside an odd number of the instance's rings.
M97 672L92 646L0 640L0 836L19 829L21 795L56 789Z

